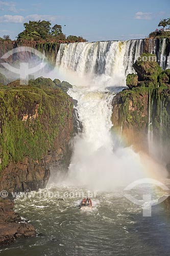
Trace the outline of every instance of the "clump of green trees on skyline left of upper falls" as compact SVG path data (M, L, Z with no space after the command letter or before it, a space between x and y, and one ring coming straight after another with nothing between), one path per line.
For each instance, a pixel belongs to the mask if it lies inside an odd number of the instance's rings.
M29 23L24 23L23 26L25 30L18 34L18 40L28 40L28 41L37 41L37 40L63 40L63 41L86 41L83 37L77 36L66 36L62 32L61 25L54 25L52 27L51 22L46 20L38 21L29 21Z

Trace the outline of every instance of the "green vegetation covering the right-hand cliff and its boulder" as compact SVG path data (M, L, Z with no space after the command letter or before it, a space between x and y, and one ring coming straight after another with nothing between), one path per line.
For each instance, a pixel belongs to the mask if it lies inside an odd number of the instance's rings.
M153 129L170 136L170 69L162 71L155 55L143 53L133 65L137 74L127 76L131 90L119 93L119 119L128 128L136 131L148 129L149 111ZM151 103L152 102L152 103ZM150 104L150 107L149 107ZM162 125L162 126L161 126ZM162 134L162 132L161 132Z

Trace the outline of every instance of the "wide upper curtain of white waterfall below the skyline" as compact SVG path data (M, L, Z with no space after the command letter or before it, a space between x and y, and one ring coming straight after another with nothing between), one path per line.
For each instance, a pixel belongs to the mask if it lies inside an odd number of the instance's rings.
M101 87L126 86L126 76L135 73L132 65L144 51L144 44L145 39L61 44L56 68L60 74L67 70L70 82L77 79L82 85L85 81ZM150 49L154 51L152 44Z

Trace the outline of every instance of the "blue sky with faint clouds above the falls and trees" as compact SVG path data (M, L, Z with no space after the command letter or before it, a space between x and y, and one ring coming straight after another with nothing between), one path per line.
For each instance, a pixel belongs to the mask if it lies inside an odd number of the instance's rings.
M89 41L144 38L170 17L169 0L0 0L0 36L15 39L29 20L51 20Z

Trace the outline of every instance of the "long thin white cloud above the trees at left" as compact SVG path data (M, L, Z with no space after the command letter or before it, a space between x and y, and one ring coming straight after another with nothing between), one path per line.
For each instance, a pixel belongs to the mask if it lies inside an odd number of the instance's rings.
M0 23L24 23L29 20L50 20L55 22L56 19L60 18L56 15L39 15L39 14L30 14L26 17L20 15L4 15L0 16Z

